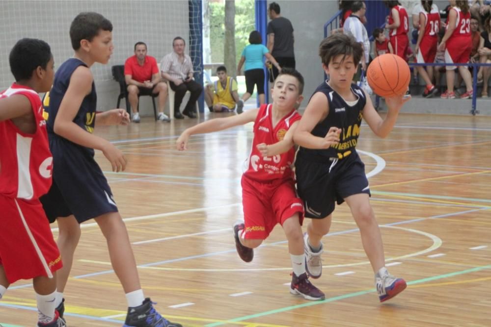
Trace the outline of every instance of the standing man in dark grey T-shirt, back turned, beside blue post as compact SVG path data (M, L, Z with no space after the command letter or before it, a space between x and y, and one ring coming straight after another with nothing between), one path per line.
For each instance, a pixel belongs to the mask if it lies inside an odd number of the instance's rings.
M268 15L271 19L268 23L268 50L281 67L295 69L292 23L280 15L280 7L276 2L270 3ZM277 75L278 69L273 66L273 76L270 76L270 81L273 82Z

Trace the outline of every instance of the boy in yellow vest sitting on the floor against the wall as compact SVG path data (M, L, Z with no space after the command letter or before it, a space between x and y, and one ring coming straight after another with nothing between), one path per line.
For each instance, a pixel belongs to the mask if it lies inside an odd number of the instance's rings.
M211 112L232 112L239 101L237 81L227 76L225 66L217 68L218 80L208 84L205 92L206 105Z

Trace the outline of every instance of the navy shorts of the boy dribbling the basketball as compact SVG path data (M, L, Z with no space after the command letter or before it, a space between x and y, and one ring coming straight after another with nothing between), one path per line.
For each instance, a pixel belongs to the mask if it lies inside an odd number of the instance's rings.
M321 162L297 156L295 161L297 191L303 201L305 217L322 219L349 196L370 195L365 165L358 153L337 160Z

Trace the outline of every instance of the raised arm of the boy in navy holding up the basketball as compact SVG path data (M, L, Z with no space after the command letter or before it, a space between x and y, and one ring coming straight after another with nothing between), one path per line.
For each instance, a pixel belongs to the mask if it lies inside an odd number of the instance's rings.
M404 103L409 101L409 98L405 98L404 96L385 98L385 104L387 104L388 112L385 116L385 119L380 117L379 113L373 107L372 100L365 92L365 97L367 99L367 103L363 108L363 119L367 122L370 129L375 133L375 135L380 136L382 138L389 135L390 131L394 127L397 116L399 115L399 111L401 110Z

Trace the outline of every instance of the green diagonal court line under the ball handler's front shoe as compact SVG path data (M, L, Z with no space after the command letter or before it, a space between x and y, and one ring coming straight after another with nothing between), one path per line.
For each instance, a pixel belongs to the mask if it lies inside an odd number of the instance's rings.
M458 275L462 275L462 274L468 274L468 273L473 273L473 272L477 272L477 271L481 271L481 270L485 270L485 269L491 269L491 265L475 267L475 268L471 268L471 269L466 269L466 270L462 270L462 271L457 271L457 272L443 274L443 275L438 275L438 276L433 276L433 277L426 277L426 278L422 278L422 279L416 279L416 280L409 281L407 284L408 285L415 285L415 284L420 284L420 283L424 283L424 282L427 282L427 281L433 281L433 280L442 279L442 278L454 277L454 276L458 276ZM365 290L365 291L359 291L359 292L354 292L354 293L348 293L348 294L344 294L344 295L339 295L339 296L335 296L335 297L328 298L328 299L321 300L321 301L312 301L312 302L307 302L307 303L302 303L302 304L297 304L297 305L290 305L290 306L286 306L286 307L283 307L283 308L278 308L278 309L273 309L273 310L269 310L269 311L255 313L255 314L252 314L252 315L247 315L247 316L242 316L242 317L238 317L238 318L228 319L225 322L208 324L208 325L205 325L205 327L222 326L222 325L231 324L231 323L233 324L233 323L237 323L237 322L244 321L244 320L254 319L254 318L263 317L263 316L268 316L268 315L272 315L272 314L276 314L276 313L281 313L281 312L285 312L285 311L291 311L291 310L294 310L294 309L299 309L299 308L303 308L303 307L307 307L307 306L320 305L320 304L324 304L324 303L328 303L328 302L335 302L335 301L339 301L339 300L353 298L353 297L356 297L356 296L360 296L360 295L364 295L364 294L368 294L368 293L372 293L372 292L376 292L376 290L375 289L369 289L369 290Z

